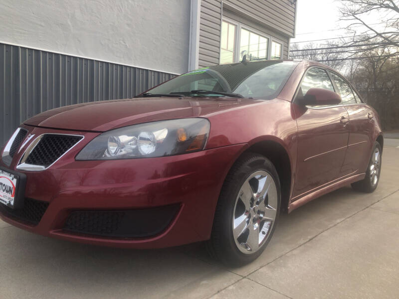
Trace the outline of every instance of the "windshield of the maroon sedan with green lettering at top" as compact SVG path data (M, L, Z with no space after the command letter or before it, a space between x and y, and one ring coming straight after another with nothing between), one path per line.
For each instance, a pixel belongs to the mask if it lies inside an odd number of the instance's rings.
M228 96L223 95L227 93L269 100L280 93L297 64L297 61L265 60L204 67L180 75L147 93L181 93L207 97Z

